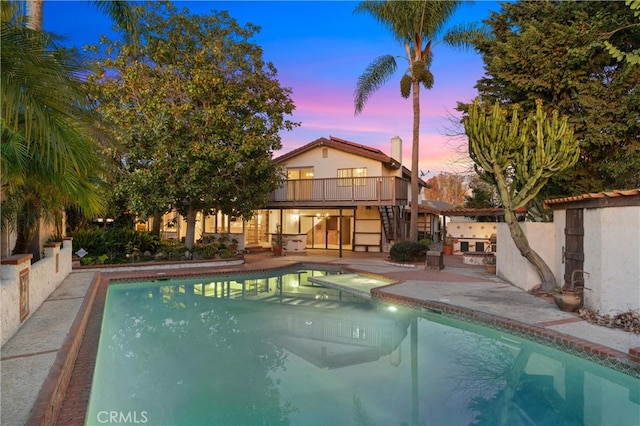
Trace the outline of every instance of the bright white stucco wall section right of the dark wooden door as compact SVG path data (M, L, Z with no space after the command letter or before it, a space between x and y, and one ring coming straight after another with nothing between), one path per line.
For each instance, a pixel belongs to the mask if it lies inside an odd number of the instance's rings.
M640 207L584 210L585 306L640 310Z

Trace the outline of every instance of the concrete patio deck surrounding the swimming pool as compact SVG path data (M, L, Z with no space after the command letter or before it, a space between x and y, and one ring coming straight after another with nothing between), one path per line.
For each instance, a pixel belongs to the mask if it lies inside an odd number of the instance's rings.
M337 256L335 251L316 250L278 258L269 253L250 254L244 264L225 270L261 270L297 262L319 262L392 277L400 282L377 289L378 297L491 317L518 330L546 333L592 356L619 361L628 366L632 375L640 377L640 335L589 324L577 314L560 311L553 301L532 296L489 275L483 267L462 265L455 256L446 256L446 267L441 271L390 264L385 261L385 254L344 252L343 257ZM180 273L203 271L203 268L181 269ZM95 358L101 313L94 312L93 317L85 315L82 319L87 323L87 331L73 371L65 372L66 352L71 348L80 317L87 310L90 290L96 287L92 285L94 280L132 274L135 273L74 270L2 347L2 425L40 424L44 413L51 409L46 405L51 393L56 392L55 382L64 374L70 375L71 381L57 424L84 424L90 389L86 384L90 384L93 371L91 350ZM149 272L140 274L148 276ZM98 294L94 306L98 309L93 311L99 310L100 297Z

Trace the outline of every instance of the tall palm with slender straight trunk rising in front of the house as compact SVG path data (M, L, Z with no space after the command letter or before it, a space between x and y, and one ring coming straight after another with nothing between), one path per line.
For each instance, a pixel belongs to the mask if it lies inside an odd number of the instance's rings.
M404 44L408 67L400 80L400 94L408 98L413 94L413 143L411 152L411 222L409 239L418 239L419 146L420 146L420 85L433 87L433 74L429 70L433 59L435 37L447 19L460 4L459 1L365 1L356 12L367 12L387 26L394 37ZM396 57L383 55L375 59L358 78L355 90L355 112L362 112L365 103L398 68Z

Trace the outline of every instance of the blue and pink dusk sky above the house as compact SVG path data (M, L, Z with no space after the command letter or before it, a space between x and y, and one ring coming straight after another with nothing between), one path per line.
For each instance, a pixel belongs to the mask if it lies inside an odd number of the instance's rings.
M276 156L319 137L335 136L376 147L390 154L390 139L403 140L403 164L411 166L411 99L400 96L401 69L369 98L363 112L354 115L353 92L358 77L378 56L404 55L404 48L371 16L354 13L352 1L191 1L174 2L192 13L227 10L240 24L261 27L253 41L264 59L278 70L278 79L293 91L296 110L292 119L301 126L283 132L282 150ZM112 36L110 20L91 2L44 2L44 28L65 37L64 44L82 47L97 43L100 34ZM497 2L463 4L450 25L479 22ZM406 63L399 60L399 65ZM455 131L452 115L457 101L476 96L482 77L482 60L473 51L440 43L431 67L434 87L420 92L420 170L429 175L461 171L456 147L466 144L446 136Z

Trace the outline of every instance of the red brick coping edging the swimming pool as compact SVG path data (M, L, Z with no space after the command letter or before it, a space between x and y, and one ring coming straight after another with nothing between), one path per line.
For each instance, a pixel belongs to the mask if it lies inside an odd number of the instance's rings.
M195 278L199 276L225 275L232 273L257 274L279 269L287 269L294 266L319 266L324 268L339 269L348 272L371 274L370 272L349 267L347 265L337 265L335 263L312 261L292 261L291 263L274 267L250 269L239 269L237 267L212 269L211 267L203 267L193 269L165 270L163 272L155 274L150 274L149 271L96 271L90 288L85 296L85 299L70 328L69 334L67 335L62 347L60 348L58 355L56 356L54 365L51 368L47 379L44 382L44 385L38 393L36 403L31 410L26 425L30 426L43 424L65 424L64 422L58 422L58 420L60 420L59 417L63 413L63 409L66 409L66 407L64 406L64 402L67 399L69 387L71 386L73 379L78 378L79 376L74 376L74 369L76 368L78 362L78 355L83 349L83 344L85 343L88 324L92 316L99 315L100 318L102 317L102 312L96 312L96 310L94 309L96 300L99 297L104 298L106 296L106 289L112 283L115 284L117 282L126 282L131 280L157 279L158 277ZM384 274L373 275L379 275L381 277L390 279L390 277L386 277ZM393 303L403 306L409 306L412 308L427 309L429 311L446 315L452 318L463 319L473 323L485 325L489 328L505 331L519 337L543 343L545 345L569 352L573 355L585 358L608 368L612 368L616 371L622 372L632 377L640 378L640 363L634 360L632 354L626 354L624 352L620 352L618 350L608 348L555 330L544 328L542 326L522 323L513 319L508 319L486 312L480 312L469 308L449 305L443 302L385 293L385 289L393 287L402 282L402 280L399 280L392 284L371 289L371 299L384 303ZM100 292L100 290L103 291ZM104 300L102 300L102 303L104 303ZM101 321L99 326L100 325ZM88 350L92 352L92 354L90 355L92 355L93 362L95 362L97 345L95 345L95 347L93 348L88 348ZM85 387L87 385L90 387L92 380L93 374L89 375L88 377L85 376L83 378L78 378L78 381L82 382ZM88 395L86 396L86 400L84 401L83 406L74 406L70 409L75 411L78 416L82 416L84 423L87 408Z

